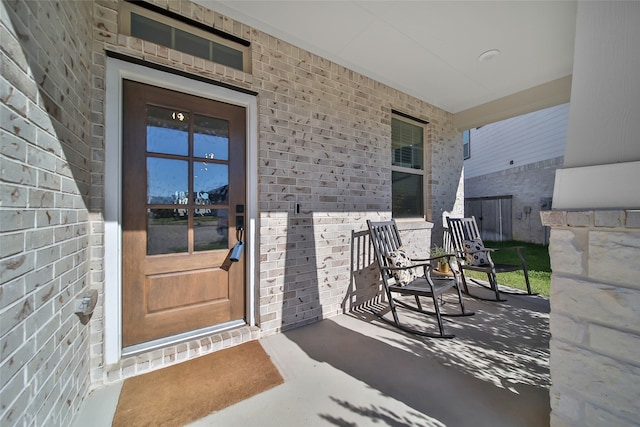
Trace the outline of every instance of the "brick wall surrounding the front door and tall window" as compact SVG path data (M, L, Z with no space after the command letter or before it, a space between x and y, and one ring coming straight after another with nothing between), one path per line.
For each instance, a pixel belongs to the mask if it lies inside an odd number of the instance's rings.
M443 210L461 209L461 136L451 126L448 113L201 6L186 1L154 3L249 40L252 73L118 34L118 3L96 1L95 203L102 203L105 49L258 92L260 263L256 300L260 330L237 334L236 343L334 316L347 307L353 273L351 232L365 229L367 218L390 217L391 109L430 122L429 218L431 212L439 218ZM295 213L296 203L300 204L299 214ZM403 227L415 229L403 232L409 244L430 246L430 224ZM96 233L92 236L96 255L92 280L103 285L102 225L96 221L92 229ZM105 367L102 316L100 307L92 321L91 378L95 385L177 360L156 351ZM199 340L183 346L196 349L194 355L219 348ZM178 349L162 351L173 354Z

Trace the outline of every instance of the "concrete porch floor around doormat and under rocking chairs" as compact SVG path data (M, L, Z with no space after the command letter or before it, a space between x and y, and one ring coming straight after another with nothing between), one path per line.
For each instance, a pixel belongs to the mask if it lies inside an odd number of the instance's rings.
M263 338L284 384L190 426L549 425L549 301L506 298L466 298L476 315L446 320L450 340L403 333L366 311ZM400 313L435 331L435 318ZM92 393L76 425L111 425L120 387Z

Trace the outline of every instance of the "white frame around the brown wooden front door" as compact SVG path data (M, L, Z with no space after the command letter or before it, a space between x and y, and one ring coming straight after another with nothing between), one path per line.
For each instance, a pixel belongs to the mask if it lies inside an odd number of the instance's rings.
M122 80L160 86L246 108L247 111L247 203L246 219L246 316L254 326L255 289L257 276L257 215L258 215L258 106L256 97L242 92L166 73L141 65L107 58L105 105L105 173L104 173L104 363L117 363L122 357L122 310L120 301L122 277L121 224L121 158L122 158Z

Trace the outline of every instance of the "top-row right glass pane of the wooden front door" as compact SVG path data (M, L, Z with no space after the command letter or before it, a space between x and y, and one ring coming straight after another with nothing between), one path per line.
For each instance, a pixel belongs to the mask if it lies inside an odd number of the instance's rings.
M213 117L193 117L193 156L229 160L229 122Z

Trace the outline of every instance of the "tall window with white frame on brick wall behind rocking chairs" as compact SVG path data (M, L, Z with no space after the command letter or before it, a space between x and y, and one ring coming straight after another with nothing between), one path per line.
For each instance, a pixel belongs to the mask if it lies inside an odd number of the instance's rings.
M424 217L424 125L391 118L391 211L394 218Z

